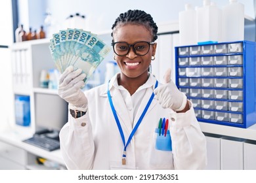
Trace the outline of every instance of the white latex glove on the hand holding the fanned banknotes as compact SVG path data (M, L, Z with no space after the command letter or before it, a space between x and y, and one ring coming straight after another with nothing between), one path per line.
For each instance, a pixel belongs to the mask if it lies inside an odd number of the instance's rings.
M85 86L83 81L85 76L81 69L74 71L74 67L70 66L60 75L58 84L58 95L69 103L69 107L84 112L87 110L88 103L81 90Z

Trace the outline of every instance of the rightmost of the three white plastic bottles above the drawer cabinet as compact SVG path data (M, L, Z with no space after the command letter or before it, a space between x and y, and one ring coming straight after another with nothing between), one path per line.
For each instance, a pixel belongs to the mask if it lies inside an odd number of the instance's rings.
M229 0L223 7L223 41L244 40L244 5L237 0Z

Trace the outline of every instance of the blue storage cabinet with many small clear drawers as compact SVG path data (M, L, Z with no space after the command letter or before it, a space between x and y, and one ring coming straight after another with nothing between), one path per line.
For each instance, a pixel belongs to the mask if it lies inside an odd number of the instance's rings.
M176 84L200 122L247 128L256 123L256 42L175 47Z

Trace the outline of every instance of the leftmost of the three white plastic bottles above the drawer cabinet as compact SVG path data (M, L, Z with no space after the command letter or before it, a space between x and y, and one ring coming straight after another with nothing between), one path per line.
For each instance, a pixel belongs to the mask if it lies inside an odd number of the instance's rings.
M197 44L196 28L196 10L192 5L186 4L185 10L179 12L179 37L181 46Z

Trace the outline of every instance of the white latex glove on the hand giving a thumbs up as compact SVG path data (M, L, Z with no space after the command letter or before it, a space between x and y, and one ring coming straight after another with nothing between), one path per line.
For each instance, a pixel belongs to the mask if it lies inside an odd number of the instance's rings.
M181 111L186 107L186 95L182 93L171 80L171 69L167 69L164 76L165 84L154 90L156 99L163 108Z

